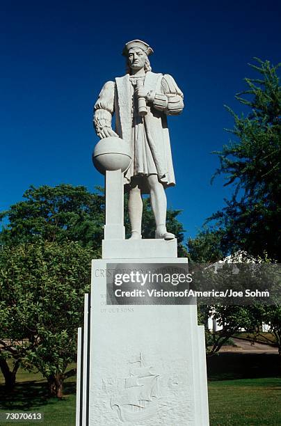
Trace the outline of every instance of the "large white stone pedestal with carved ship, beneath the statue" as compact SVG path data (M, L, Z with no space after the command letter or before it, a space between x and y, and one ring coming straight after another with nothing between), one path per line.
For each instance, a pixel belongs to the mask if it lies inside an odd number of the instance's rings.
M78 354L77 426L209 425L204 327L196 306L106 306L107 262L132 261L129 255L93 260ZM187 260L134 258L180 262Z

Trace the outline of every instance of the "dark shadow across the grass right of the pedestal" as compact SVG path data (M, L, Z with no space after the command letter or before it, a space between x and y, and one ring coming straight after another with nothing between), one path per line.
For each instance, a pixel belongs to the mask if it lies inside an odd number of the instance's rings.
M280 359L278 354L220 353L207 358L207 374L209 380L278 377Z

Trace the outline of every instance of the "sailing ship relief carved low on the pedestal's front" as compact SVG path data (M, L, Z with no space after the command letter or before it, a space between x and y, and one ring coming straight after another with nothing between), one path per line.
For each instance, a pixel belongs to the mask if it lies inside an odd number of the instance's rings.
M125 389L111 398L111 409L116 409L122 422L136 422L154 417L158 412L159 374L146 367L140 353L136 364L125 378Z

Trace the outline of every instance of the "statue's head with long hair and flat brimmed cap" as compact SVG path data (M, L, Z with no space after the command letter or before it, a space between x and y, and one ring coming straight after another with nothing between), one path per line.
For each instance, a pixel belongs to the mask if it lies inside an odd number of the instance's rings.
M131 70L137 71L142 68L145 72L151 71L148 55L152 53L152 48L141 40L127 42L122 52L127 58L127 72L130 74Z

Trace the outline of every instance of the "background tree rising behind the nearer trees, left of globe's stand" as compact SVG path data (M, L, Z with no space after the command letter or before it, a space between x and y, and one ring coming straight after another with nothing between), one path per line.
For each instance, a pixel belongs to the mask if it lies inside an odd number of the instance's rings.
M91 194L86 187L60 184L31 186L24 200L0 214L9 224L1 232L3 244L33 242L36 237L48 242L76 241L100 250L104 222L104 194L100 188Z

